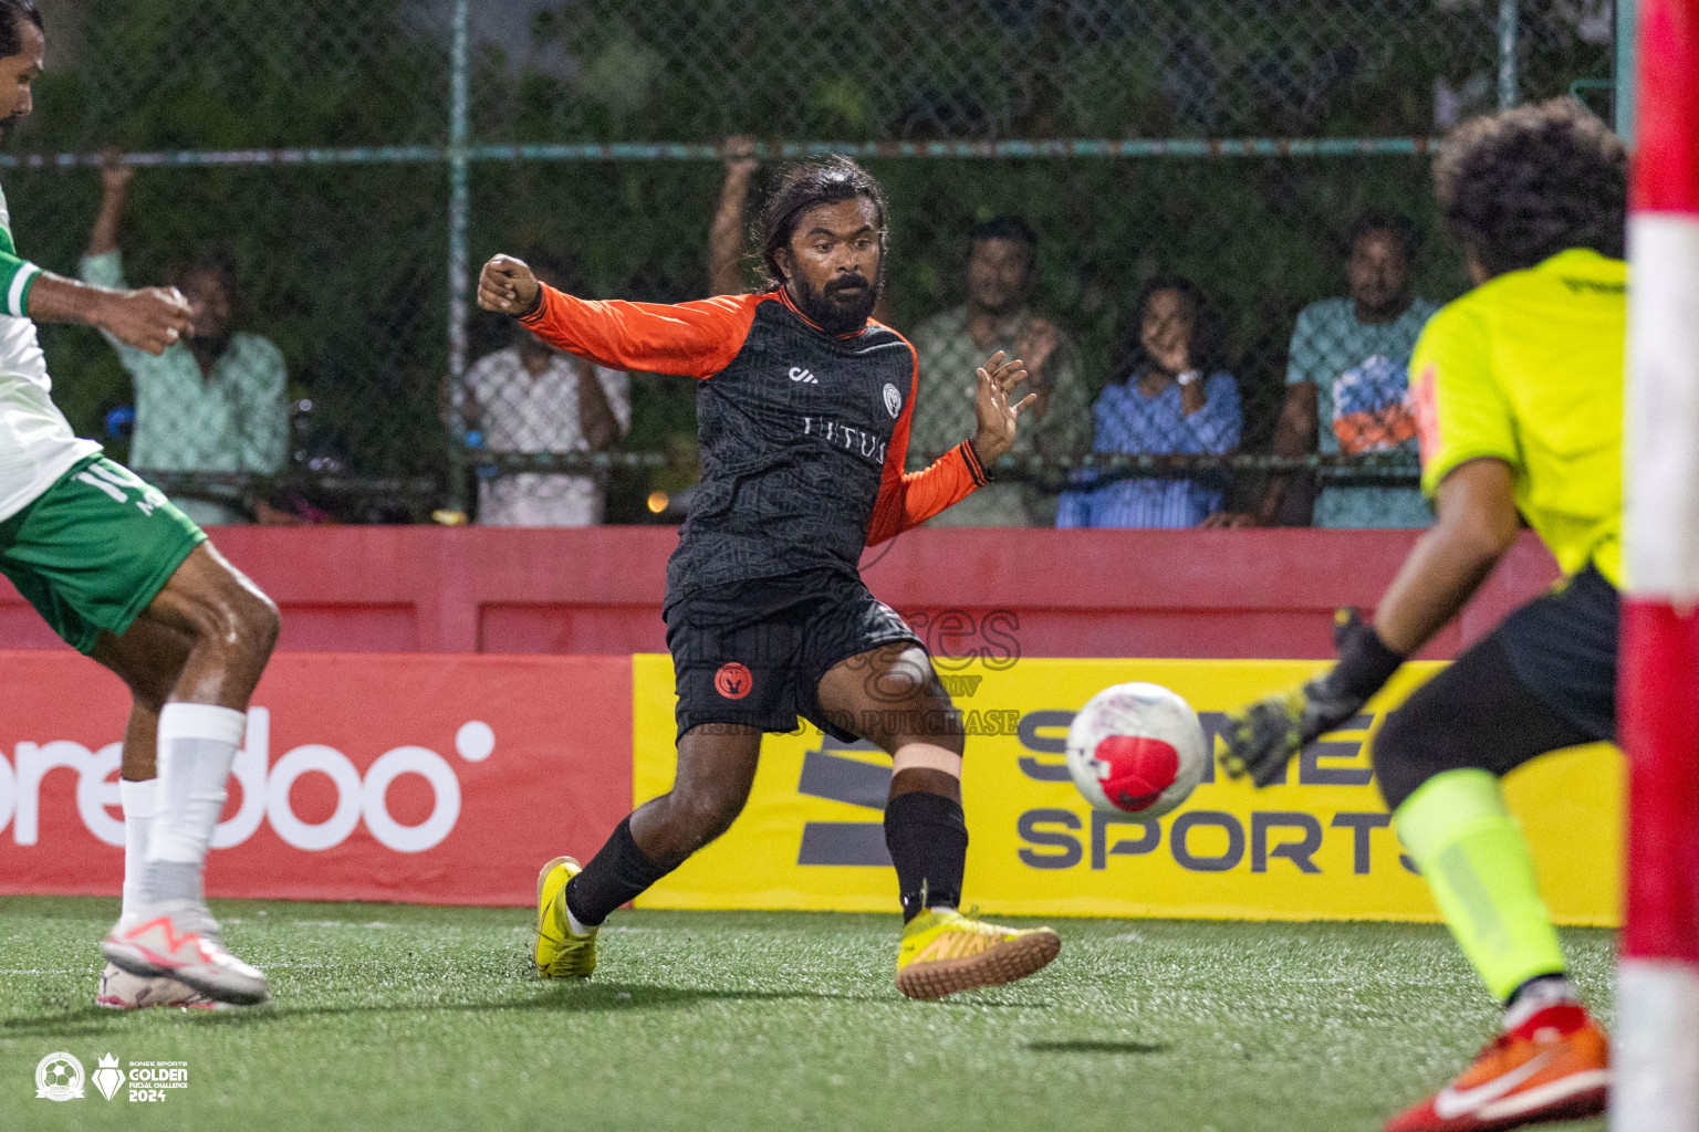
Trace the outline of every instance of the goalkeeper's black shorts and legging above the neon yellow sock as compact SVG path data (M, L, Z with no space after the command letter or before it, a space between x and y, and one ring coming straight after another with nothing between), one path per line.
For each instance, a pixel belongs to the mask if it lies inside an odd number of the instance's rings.
M1446 771L1504 776L1549 750L1614 740L1617 611L1616 589L1587 567L1419 687L1374 735L1386 806Z

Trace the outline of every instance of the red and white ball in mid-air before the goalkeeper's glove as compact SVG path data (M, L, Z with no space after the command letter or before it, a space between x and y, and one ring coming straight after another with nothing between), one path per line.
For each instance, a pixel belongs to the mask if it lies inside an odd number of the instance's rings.
M1098 810L1160 818L1191 796L1210 765L1203 725L1160 684L1116 684L1067 730L1067 772Z

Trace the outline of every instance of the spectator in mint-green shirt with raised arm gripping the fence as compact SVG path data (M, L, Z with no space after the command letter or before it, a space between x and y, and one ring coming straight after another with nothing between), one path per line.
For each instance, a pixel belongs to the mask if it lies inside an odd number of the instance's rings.
M78 278L124 287L119 226L131 168L107 154L100 216ZM129 463L141 472L253 472L275 475L289 455L289 380L272 339L234 331L236 287L221 258L197 260L172 282L189 300L194 333L155 356L107 334L136 385L136 433ZM236 507L173 496L202 526L248 523Z

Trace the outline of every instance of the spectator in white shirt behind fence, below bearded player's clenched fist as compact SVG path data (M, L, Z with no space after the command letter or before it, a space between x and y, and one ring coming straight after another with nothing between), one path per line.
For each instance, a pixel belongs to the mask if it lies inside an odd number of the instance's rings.
M545 253L525 261L537 278L574 290L571 270ZM466 375L472 428L491 453L610 451L632 423L630 382L561 353L513 324L513 345L486 355ZM477 482L481 526L595 526L605 474L493 472Z

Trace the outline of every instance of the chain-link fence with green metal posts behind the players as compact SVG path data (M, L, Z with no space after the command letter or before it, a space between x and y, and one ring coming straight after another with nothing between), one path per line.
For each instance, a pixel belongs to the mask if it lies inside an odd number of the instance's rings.
M746 207L782 156L850 153L885 183L885 314L926 361L917 458L970 428L984 355L1048 348L987 516L1368 521L1366 496L1335 497L1400 475L1410 496L1400 343L1466 285L1431 139L1570 90L1607 114L1614 51L1609 0L41 7L49 70L0 160L22 253L78 270L116 146L127 280L216 280L236 333L161 377L51 329L59 402L168 487L296 521L668 518L652 492L691 480L691 384L528 353L471 311L471 278L515 251L593 295L702 297L732 134L758 139ZM1383 222L1410 278L1380 312L1347 280L1371 210L1410 221ZM970 233L1002 216L1036 249L1028 302L992 311ZM1174 316L1155 338L1152 305ZM1186 367L1162 361L1176 334ZM217 440L280 417L280 463ZM1274 451L1351 467L1271 477Z

